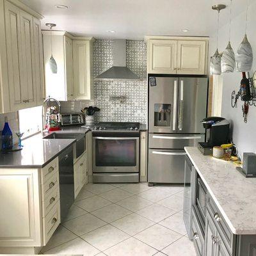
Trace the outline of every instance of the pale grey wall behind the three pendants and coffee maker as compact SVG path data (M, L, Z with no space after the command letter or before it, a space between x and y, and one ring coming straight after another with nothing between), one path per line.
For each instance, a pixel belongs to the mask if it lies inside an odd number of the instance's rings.
M244 1L246 2L246 1ZM236 4L236 1L233 1ZM246 6L244 6L244 9ZM220 15L229 15L229 8L222 10ZM248 8L248 28L247 35L250 44L253 49L253 67L250 72L250 76L256 70L256 2L251 4ZM232 18L232 32L230 42L236 53L239 44L243 40L245 31L245 10L241 15ZM221 19L221 16L220 16ZM219 36L219 51L224 51L228 43L228 25L225 25L220 29ZM216 49L216 35L210 37L210 49L209 55L211 56ZM256 107L250 106L247 115L247 124L243 121L242 105L243 102L239 99L237 102L237 108L231 107L231 93L233 90L236 92L239 90L240 81L242 79L242 74L239 72L222 74L223 76L223 97L222 97L222 113L221 116L230 120L233 140L237 145L239 152L256 152Z

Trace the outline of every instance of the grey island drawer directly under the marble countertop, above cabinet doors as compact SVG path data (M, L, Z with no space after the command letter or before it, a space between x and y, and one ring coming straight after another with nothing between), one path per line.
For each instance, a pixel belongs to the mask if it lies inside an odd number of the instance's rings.
M220 213L220 210L212 200L211 196L207 195L207 209L209 214L212 217L218 231L220 232L221 238L223 239L224 243L226 244L228 250L232 251L233 241L234 241L234 234L232 234L231 230L229 229L226 221L224 220L223 216Z

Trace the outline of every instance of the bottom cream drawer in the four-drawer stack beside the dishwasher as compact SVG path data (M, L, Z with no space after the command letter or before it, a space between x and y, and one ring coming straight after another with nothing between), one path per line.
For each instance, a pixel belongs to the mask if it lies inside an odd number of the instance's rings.
M44 245L47 244L58 225L60 225L60 200L43 218Z

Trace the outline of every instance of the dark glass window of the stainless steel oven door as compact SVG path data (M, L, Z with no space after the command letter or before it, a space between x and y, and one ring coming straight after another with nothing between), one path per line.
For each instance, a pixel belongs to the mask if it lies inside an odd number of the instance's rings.
M96 166L136 166L136 140L95 140Z

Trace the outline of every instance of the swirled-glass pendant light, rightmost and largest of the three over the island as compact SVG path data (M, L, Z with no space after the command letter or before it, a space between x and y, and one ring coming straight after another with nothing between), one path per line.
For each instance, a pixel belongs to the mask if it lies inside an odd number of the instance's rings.
M239 45L236 54L236 70L237 72L248 72L252 69L253 53L252 46L247 39L247 19L248 19L248 0L246 8L245 34L243 41Z

